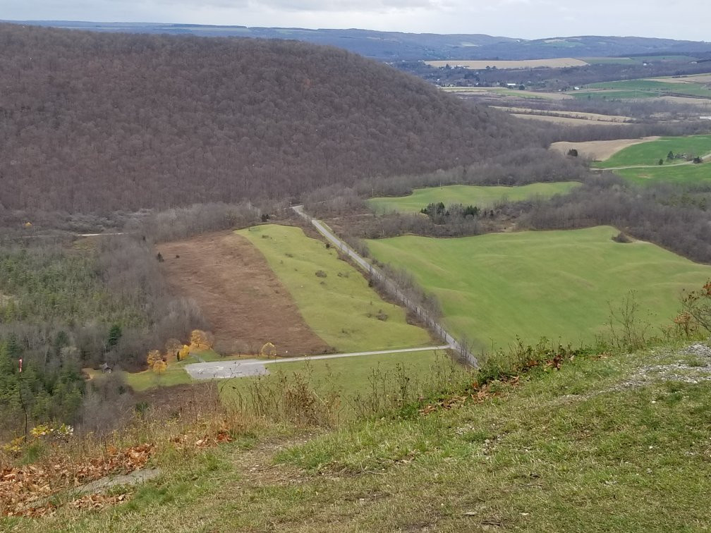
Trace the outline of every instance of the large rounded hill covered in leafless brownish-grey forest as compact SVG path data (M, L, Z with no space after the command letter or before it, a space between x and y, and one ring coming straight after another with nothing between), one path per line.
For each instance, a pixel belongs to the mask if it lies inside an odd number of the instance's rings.
M506 114L336 48L0 25L0 207L298 195L535 144Z

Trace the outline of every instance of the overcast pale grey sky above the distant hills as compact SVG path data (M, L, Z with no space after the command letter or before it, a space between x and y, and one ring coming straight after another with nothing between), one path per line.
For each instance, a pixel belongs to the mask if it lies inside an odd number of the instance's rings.
M711 0L0 0L0 18L711 41Z

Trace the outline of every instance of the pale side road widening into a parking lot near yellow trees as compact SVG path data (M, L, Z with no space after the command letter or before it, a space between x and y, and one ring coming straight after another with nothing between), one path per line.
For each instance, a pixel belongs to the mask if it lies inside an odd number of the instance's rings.
M381 355L389 353L424 352L429 350L447 350L449 345L426 346L424 348L401 348L399 350L376 350L374 352L331 353L328 355L304 355L284 359L240 359L232 361L195 362L185 365L185 371L193 379L226 379L230 377L262 376L269 374L266 365L280 362L315 361L319 359L338 359L340 357L358 357L360 355Z

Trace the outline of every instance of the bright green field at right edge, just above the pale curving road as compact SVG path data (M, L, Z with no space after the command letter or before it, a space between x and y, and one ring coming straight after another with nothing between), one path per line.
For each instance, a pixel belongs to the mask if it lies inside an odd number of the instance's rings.
M679 137L662 137L656 141L634 144L621 149L605 161L595 163L601 168L631 165L656 165L663 159L664 166L685 162L683 159L667 160L667 154L689 154L690 156L705 156L711 154L711 135L690 135Z

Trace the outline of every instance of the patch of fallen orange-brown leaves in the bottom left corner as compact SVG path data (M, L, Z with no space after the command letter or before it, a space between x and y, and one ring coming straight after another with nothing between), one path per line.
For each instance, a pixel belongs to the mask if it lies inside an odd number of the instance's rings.
M139 470L149 460L154 448L154 444L141 444L124 450L109 446L105 456L84 463L75 463L70 458L62 457L54 458L44 467L3 467L0 470L0 514L28 517L47 515L55 508L48 502L50 496L107 475Z

